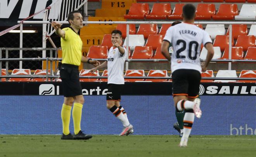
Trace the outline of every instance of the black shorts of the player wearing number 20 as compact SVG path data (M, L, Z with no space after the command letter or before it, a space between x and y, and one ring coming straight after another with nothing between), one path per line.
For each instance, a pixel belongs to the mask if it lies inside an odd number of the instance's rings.
M201 74L193 69L175 70L171 77L173 79L173 96L185 95L196 98L199 94Z

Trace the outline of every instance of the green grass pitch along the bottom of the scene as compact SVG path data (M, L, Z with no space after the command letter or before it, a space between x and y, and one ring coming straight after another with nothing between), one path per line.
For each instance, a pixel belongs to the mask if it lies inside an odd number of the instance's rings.
M0 135L0 157L255 157L256 136L192 136L179 148L178 135Z

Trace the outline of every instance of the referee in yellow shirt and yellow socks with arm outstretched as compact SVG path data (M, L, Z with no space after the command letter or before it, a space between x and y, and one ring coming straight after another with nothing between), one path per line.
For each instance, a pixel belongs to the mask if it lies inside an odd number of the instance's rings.
M56 34L61 37L62 48L62 64L60 68L60 76L62 79L62 88L64 93L64 103L61 110L62 118L62 140L87 140L92 138L81 132L81 115L84 103L82 88L79 81L78 66L81 62L87 62L94 66L99 66L99 61L93 61L82 56L83 42L78 34L83 27L83 16L76 10L70 12L67 17L70 27L61 29L61 24L51 22L52 27L56 30ZM71 108L73 106L72 116L74 122L74 135L69 132L69 121L71 116Z

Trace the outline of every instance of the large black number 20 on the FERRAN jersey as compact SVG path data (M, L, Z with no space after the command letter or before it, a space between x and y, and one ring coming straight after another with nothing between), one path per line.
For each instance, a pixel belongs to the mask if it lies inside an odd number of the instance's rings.
M182 43L183 46L176 51L176 58L185 58L186 56L181 56L180 52L182 52L186 49L187 44L183 40L177 40L176 45L180 45L180 43ZM192 56L192 50L191 49L192 49L193 44L195 45L195 47L194 47L195 48L195 56ZM189 42L189 55L188 56L189 56L190 59L195 60L197 58L197 48L198 48L198 46L199 46L199 44L196 41L190 41Z

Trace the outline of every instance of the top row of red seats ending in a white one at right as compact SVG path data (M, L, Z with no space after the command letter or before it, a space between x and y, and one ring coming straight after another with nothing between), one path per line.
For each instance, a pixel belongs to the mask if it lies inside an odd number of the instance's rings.
M176 3L171 13L170 3L155 3L149 12L148 3L132 3L125 19L182 19L184 3ZM216 14L214 3L199 3L195 12L195 20L256 20L256 4L243 4L238 14L237 4L221 4Z

